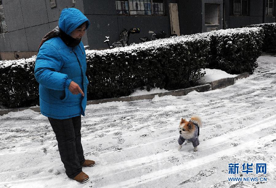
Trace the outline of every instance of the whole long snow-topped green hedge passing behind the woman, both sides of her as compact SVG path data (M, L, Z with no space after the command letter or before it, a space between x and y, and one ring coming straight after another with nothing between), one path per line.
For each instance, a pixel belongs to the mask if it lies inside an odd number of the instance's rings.
M263 30L239 28L158 39L129 47L86 51L88 100L128 96L135 88L167 90L194 86L216 68L252 73L261 53ZM33 72L36 56L0 61L0 103L27 107L39 103Z

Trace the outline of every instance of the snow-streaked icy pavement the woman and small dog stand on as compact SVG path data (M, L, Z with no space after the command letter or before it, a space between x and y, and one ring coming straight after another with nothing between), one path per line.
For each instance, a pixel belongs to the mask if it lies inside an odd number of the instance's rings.
M0 187L275 187L276 57L235 85L186 96L87 106L82 146L90 181L67 178L48 119L31 110L0 116ZM178 151L180 118L201 115L200 145ZM228 163L239 163L238 175ZM241 172L253 163L254 173ZM266 174L255 164L266 163ZM265 177L267 182L229 182Z

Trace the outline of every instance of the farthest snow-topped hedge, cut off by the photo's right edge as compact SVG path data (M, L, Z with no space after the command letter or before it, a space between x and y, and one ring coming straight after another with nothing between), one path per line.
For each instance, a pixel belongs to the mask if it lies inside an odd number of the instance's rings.
M275 53L276 52L276 23L255 24L247 27L260 27L263 28L263 52Z

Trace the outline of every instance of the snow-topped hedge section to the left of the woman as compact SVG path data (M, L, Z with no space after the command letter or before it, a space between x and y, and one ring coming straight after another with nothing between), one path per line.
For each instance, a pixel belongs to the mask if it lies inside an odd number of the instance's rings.
M0 61L0 103L6 107L39 104L38 83L34 77L36 56Z

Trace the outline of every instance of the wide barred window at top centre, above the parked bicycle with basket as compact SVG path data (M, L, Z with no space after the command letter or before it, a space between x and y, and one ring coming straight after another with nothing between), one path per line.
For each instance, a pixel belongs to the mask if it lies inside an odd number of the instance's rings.
M163 15L164 0L115 1L117 14Z

